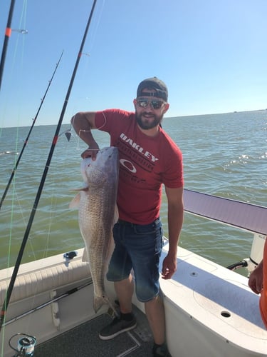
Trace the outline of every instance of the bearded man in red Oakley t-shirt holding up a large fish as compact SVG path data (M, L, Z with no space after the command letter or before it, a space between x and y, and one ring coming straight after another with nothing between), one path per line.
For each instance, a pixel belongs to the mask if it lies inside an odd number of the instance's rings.
M88 144L82 157L95 159L98 144L91 129L107 131L110 145L117 146L120 178L117 193L119 221L113 228L115 250L107 278L114 281L120 303L120 318L100 331L108 340L135 328L132 314L135 273L137 298L145 311L154 337L153 356L170 356L165 343L164 305L159 291L159 256L162 251L162 223L159 208L162 184L168 203L169 252L162 264L162 278L169 279L177 268L177 245L183 222L182 152L162 130L169 109L167 86L156 77L145 79L137 88L135 113L120 109L80 112L71 124Z

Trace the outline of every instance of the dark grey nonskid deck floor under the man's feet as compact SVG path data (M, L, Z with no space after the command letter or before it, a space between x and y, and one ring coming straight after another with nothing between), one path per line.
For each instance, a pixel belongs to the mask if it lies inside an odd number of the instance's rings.
M112 321L108 313L36 345L34 357L148 357L152 356L152 333L142 311L134 308L137 327L102 341L98 332ZM37 341L38 342L38 341Z

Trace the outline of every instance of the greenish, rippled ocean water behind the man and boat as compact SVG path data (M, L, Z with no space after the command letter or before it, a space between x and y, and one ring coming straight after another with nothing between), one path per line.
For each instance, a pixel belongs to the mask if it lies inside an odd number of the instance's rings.
M185 188L266 206L267 111L182 116L164 119L163 128L182 149ZM9 181L29 127L0 130L0 197ZM82 186L80 154L85 144L61 127L22 262L83 247L78 211L68 204ZM1 207L0 268L13 266L26 232L46 167L55 126L35 126ZM108 134L94 131L100 147ZM161 216L167 235L167 201ZM236 228L185 213L179 245L222 266L250 254L253 236ZM245 269L238 271L246 275Z

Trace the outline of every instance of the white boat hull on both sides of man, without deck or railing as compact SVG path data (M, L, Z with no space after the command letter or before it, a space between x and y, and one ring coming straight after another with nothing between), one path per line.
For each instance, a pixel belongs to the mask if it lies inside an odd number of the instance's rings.
M164 247L162 258L166 254ZM21 266L6 315L4 356L14 356L9 338L24 332L47 341L95 317L93 285L34 310L55 296L90 282L88 264L82 262L83 249L66 263L53 256ZM267 356L267 332L258 311L258 296L250 291L247 278L184 248L178 249L178 269L169 281L161 279L167 323L167 343L172 357ZM1 303L11 269L0 273ZM107 283L111 301L112 283ZM142 303L135 305L144 311ZM101 308L98 314L107 311ZM9 323L12 318L15 321Z

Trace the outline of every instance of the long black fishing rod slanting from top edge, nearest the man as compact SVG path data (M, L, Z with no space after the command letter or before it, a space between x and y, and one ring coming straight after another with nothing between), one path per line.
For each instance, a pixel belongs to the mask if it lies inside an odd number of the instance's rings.
M30 215L30 218L28 219L28 225L26 227L26 231L25 231L25 234L23 236L23 241L21 242L21 248L19 250L19 254L18 254L18 258L16 259L16 264L14 266L14 271L12 273L12 276L11 276L11 280L10 280L10 283L9 283L9 288L7 289L6 291L6 298L4 300L4 303L3 303L3 306L1 308L1 312L0 312L0 331L1 331L1 328L3 326L3 323L4 323L4 319L5 319L5 316L6 316L6 310L9 306L9 300L10 300L10 297L11 297L11 293L12 293L12 290L14 288L14 283L16 281L16 276L18 274L18 271L19 271L19 266L21 264L21 259L22 259L22 256L23 256L23 251L24 251L24 248L26 246L26 242L28 240L28 236L29 236L29 233L31 231L31 226L32 226L32 223L33 223L33 218L35 216L35 213L36 213L36 210L37 210L37 207L38 207L38 202L40 200L40 197L41 197L41 193L43 191L43 185L46 181L46 176L48 174L48 169L49 169L49 166L51 164L51 159L52 159L52 156L53 156L53 151L55 150L55 147L56 147L56 143L58 141L58 134L59 134L59 131L61 129L61 124L62 124L62 121L63 121L63 117L64 117L64 114L65 114L65 111L66 111L66 107L67 107L67 104L68 104L68 99L69 99L69 96L70 96L70 91L72 89L72 86L73 86L73 82L74 82L74 79L75 79L75 74L76 74L76 71L78 69L78 65L79 65L79 62L80 62L80 57L82 56L82 53L83 53L83 46L85 44L85 39L86 39L86 36L87 36L87 33L88 33L88 29L89 29L89 26L90 26L90 22L91 22L91 19L92 19L92 16L93 16L93 11L95 9L95 4L96 4L97 0L94 0L93 1L93 5L92 5L92 9L90 11L90 16L89 16L89 19L88 19L88 23L86 25L86 28L85 28L85 33L83 35L83 40L80 44L80 51L78 53L78 56L77 56L77 59L76 59L76 63L75 63L75 66L74 66L74 69L73 69L73 74L71 76L71 79L70 79L70 84L68 86L68 91L67 91L67 94L66 94L66 99L64 101L64 104L63 104L63 108L62 108L62 111L61 111L61 116L60 118L58 119L58 125L56 127L56 132L55 132L55 135L53 137L53 141L52 141L52 144L51 144L51 149L50 149L50 152L48 154L48 159L46 161L46 166L45 166L45 169L43 171L43 176L41 178L41 182L40 182L40 185L39 185L39 188L38 188L38 191L36 193L36 198L35 198L35 201L33 203L33 208L31 210L31 215Z

